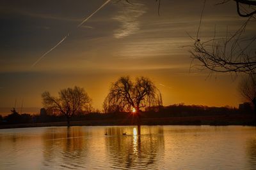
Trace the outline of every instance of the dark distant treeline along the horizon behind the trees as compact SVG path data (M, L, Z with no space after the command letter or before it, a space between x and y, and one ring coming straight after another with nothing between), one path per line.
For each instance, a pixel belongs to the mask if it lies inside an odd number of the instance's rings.
M137 113L135 113L137 114ZM243 104L239 108L230 107L208 107L197 105L173 104L170 106L148 107L140 113L143 120L152 118L175 118L175 117L229 117L238 115L253 115L253 110L248 104ZM88 121L88 120L128 120L134 118L133 113L79 113L72 117L72 121ZM41 109L40 115L29 115L27 113L19 114L13 108L12 113L5 117L0 115L0 124L33 124L33 123L49 123L49 122L65 122L63 115L53 114L50 111Z

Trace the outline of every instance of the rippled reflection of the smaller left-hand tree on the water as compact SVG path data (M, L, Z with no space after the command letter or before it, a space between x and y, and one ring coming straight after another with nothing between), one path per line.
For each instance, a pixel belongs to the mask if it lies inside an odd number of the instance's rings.
M76 127L47 129L44 138L44 166L77 168L86 161L88 133Z

